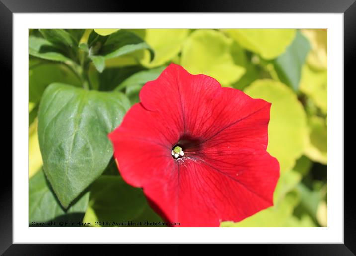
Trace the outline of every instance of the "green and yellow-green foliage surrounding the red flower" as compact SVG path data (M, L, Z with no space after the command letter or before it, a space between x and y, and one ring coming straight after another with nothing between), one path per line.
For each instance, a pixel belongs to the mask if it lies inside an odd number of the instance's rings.
M272 103L267 151L281 166L275 205L221 226L327 226L326 29L30 29L30 226L162 221L142 190L121 179L104 135L171 62ZM97 110L102 120L90 116ZM77 116L86 134L73 128ZM68 137L77 141L70 152ZM60 150L49 152L56 143Z

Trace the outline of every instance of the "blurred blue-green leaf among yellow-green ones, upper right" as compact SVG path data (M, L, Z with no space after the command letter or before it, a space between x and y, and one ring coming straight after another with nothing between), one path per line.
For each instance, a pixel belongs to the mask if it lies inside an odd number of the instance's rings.
M299 89L302 67L305 63L310 44L302 33L297 31L292 44L287 50L274 60L275 70L281 82L291 86L295 91Z

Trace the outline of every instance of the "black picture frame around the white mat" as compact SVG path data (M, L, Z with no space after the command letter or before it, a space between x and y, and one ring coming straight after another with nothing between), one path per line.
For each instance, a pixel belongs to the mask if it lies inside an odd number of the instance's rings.
M352 62L356 60L356 3L355 0L189 0L179 1L170 11L162 12L301 12L301 13L344 13L344 86L351 83ZM161 4L162 5L162 4ZM158 5L159 6L159 5ZM166 5L167 6L167 5ZM134 1L98 0L0 0L0 65L7 89L12 84L12 22L13 13L19 12L152 12L158 11L151 1L139 4ZM355 83L355 82L354 82ZM5 87L5 83L3 84ZM11 90L12 94L12 90ZM9 94L7 94L9 95ZM345 94L347 96L347 94ZM349 94L350 96L350 94ZM345 104L345 98L344 98ZM8 106L8 105L7 105ZM353 109L353 108L351 108ZM344 107L344 117L350 108ZM348 112L349 111L349 112ZM11 117L12 118L12 117ZM344 119L345 120L345 119ZM12 122L11 122L12 130ZM5 129L9 131L9 126ZM344 123L344 136L350 134ZM12 131L12 138L16 134ZM351 136L349 137L351 138ZM351 144L351 140L348 141ZM350 152L350 151L349 151ZM16 154L13 151L13 154ZM350 153L349 153L350 154ZM346 151L344 151L346 155ZM344 156L345 159L345 156ZM345 165L345 160L344 160ZM340 172L343 170L339 170ZM293 244L293 245L236 245L247 247L249 253L263 252L267 255L356 255L356 206L354 196L356 186L352 183L353 168L344 171L344 244ZM66 255L73 252L69 245L20 245L12 243L12 173L2 170L0 186L0 254L4 255ZM184 253L179 245L173 253ZM205 247L209 249L208 247ZM81 252L91 246L81 246ZM233 249L236 250L236 249ZM237 252L237 251L236 251Z

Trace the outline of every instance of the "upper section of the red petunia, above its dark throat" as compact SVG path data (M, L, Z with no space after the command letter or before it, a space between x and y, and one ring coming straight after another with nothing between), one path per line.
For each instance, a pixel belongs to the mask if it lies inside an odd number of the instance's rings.
M184 135L203 142L218 136L220 141L228 138L240 147L267 147L270 103L236 89L221 88L211 77L191 75L170 64L157 80L142 88L140 99L146 109L182 126Z

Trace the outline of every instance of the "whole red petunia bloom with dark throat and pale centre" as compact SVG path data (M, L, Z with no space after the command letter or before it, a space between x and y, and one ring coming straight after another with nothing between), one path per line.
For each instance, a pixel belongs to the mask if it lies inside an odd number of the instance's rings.
M146 83L140 99L109 137L123 179L143 188L164 219L215 227L273 205L279 163L266 152L270 103L176 64Z

